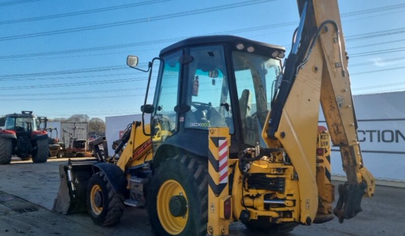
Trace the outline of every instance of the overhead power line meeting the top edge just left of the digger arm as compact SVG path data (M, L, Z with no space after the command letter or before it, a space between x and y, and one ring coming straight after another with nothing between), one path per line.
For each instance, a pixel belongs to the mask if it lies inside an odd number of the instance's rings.
M192 11L178 12L178 13L172 13L172 14L166 14L166 15L160 15L160 16L154 16L154 17L145 17L145 18L134 19L134 20L118 21L118 22L112 22L112 23L106 23L106 24L90 25L90 26L83 26L83 27L76 27L76 28L69 28L69 29L59 29L59 30L52 30L52 31L38 32L38 33L27 33L27 34L20 34L20 35L5 36L5 37L0 37L0 41L17 40L20 38L47 36L47 35L55 35L55 34L61 34L61 33L80 32L80 31L86 31L86 30L102 29L102 28L123 26L123 25L129 25L129 24L138 24L138 23L143 23L143 22L150 22L150 21L172 19L172 18L178 18L178 17L190 16L190 15L196 15L196 14L203 14L203 13L207 13L207 12L211 13L211 12L216 12L216 11L246 7L246 6L262 4L262 3L267 3L267 2L275 2L275 1L278 1L278 0L250 0L250 1L240 2L240 3L232 3L232 4L197 9L197 10L192 10Z

